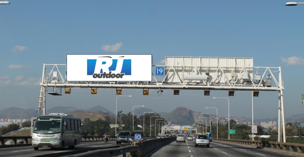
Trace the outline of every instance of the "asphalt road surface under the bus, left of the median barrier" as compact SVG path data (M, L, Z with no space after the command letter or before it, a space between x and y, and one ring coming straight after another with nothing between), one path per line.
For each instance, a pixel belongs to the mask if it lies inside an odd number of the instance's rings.
M13 148L1 148L0 149L0 157L34 157L45 154L52 154L53 156L58 156L56 153L69 152L75 150L84 150L88 148L105 148L116 146L116 141L108 141L105 143L104 141L96 141L96 142L81 142L79 145L76 145L74 149L69 149L68 147L60 149L51 149L51 148L39 148L38 150L34 150L32 146L26 147L13 147ZM128 145L120 144L119 146ZM64 155L60 155L64 156Z

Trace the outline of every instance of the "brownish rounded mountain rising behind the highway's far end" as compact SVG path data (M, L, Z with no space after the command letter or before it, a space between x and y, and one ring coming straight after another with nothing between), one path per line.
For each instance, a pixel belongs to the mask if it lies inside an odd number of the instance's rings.
M201 113L192 111L186 107L178 107L169 113L163 114L162 117L173 124L192 125L200 115Z

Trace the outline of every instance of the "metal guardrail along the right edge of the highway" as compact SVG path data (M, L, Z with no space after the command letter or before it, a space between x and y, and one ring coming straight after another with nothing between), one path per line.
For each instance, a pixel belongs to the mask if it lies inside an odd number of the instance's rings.
M252 140L236 140L236 139L223 139L223 138L213 138L214 141L242 144L242 145L254 145L257 148L269 149L272 151L281 150L281 152L292 152L300 153L297 155L304 156L304 144L299 143L288 143L288 142L274 142L274 141L252 141Z

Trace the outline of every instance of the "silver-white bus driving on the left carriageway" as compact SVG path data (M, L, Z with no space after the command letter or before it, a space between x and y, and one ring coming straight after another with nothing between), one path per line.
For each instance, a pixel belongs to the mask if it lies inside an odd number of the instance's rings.
M41 115L32 124L32 146L42 148L75 148L81 142L81 119L67 113Z

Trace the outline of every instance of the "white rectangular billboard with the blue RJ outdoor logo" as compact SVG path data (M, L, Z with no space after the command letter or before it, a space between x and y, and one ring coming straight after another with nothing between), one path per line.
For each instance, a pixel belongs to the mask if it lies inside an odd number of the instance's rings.
M67 54L67 81L152 81L151 54Z

